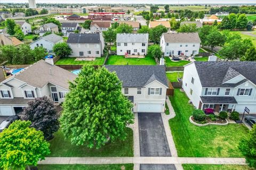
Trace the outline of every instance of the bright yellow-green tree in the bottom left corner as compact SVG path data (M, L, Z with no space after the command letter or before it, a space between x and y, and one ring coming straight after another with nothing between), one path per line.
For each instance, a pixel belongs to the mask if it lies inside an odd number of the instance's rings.
M43 132L29 128L29 121L15 121L0 133L0 167L25 170L50 154Z

